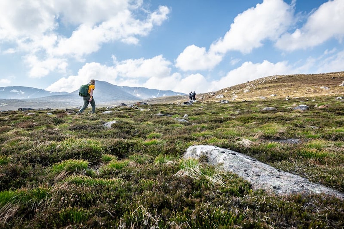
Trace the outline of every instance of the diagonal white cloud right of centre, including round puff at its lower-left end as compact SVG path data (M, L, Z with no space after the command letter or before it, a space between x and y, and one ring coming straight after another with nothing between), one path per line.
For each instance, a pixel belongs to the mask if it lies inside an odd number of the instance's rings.
M282 0L264 0L236 16L223 38L204 47L190 45L176 59L175 66L183 71L212 69L228 51L247 54L261 47L264 40L275 41L286 32L293 20L293 7Z

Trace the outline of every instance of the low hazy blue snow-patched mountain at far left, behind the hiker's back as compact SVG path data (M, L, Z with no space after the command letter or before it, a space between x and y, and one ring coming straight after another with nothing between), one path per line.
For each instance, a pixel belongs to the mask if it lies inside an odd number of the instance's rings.
M35 99L51 95L64 95L69 94L68 92L51 92L43 89L12 86L12 87L1 87L0 98L1 99Z

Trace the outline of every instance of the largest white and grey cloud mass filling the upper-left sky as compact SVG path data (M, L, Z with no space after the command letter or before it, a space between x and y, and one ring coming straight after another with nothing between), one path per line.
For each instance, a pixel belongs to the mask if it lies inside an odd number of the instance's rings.
M44 77L61 68L56 60L73 57L84 61L85 55L98 51L104 43L138 44L139 37L161 25L170 12L165 6L154 12L140 10L142 4L142 0L2 0L0 40L13 46L8 49L11 52L27 53L31 77ZM141 12L140 19L133 10ZM72 29L71 35L58 34L58 28L64 26Z

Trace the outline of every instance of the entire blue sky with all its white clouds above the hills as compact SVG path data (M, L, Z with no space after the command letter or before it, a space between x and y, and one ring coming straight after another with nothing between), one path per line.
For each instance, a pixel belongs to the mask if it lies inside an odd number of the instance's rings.
M0 85L204 93L344 71L343 37L344 0L1 0Z

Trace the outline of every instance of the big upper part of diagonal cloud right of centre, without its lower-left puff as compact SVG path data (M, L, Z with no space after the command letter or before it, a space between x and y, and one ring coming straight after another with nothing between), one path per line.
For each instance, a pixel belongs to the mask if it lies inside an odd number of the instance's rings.
M250 53L263 41L276 40L292 23L293 8L282 0L264 0L236 16L225 36L214 42L210 50L226 53L237 50Z

